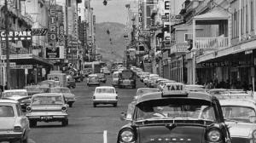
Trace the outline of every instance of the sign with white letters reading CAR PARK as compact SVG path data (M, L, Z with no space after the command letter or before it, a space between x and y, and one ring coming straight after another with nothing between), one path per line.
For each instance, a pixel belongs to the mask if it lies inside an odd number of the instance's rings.
M6 40L6 34L8 37L8 40L31 40L32 35L31 31L9 31L6 33L5 31L0 31L0 37L1 40L5 41Z

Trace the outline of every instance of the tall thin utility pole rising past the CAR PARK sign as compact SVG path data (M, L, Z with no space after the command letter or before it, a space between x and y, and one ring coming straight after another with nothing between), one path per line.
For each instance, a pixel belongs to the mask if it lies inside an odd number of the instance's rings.
M9 15L8 15L8 7L7 7L7 0L4 1L5 7L5 48L6 48L6 86L9 89Z

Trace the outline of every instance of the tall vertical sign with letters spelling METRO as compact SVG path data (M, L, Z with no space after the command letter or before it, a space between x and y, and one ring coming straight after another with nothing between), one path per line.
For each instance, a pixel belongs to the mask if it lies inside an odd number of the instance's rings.
M56 27L56 2L49 0L49 43L55 43L57 39Z

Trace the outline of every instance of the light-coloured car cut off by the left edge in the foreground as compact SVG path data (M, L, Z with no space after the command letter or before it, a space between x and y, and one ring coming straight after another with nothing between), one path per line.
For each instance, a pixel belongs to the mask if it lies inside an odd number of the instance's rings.
M0 142L26 143L29 121L16 100L0 100Z

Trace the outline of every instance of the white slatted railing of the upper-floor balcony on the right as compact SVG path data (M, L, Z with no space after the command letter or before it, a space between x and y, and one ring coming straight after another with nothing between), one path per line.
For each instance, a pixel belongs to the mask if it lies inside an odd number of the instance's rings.
M229 46L228 37L196 37L196 49L223 49Z

